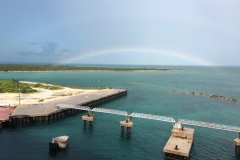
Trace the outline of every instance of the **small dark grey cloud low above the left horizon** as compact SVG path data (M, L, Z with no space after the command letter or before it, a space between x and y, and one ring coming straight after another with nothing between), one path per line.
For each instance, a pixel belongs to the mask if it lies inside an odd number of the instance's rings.
M36 55L36 56L57 56L55 53L55 50L57 48L58 44L54 42L46 42L46 44L43 44L40 48L39 52L34 51L28 51L28 52L19 52L22 56L28 56L28 55Z

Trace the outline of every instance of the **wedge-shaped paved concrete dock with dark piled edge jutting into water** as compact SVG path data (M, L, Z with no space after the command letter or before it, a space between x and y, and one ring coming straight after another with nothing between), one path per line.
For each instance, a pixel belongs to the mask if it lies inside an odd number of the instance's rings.
M54 106L58 103L93 107L124 95L127 95L127 90L124 89L98 90L43 104L19 105L11 113L11 115L9 115L9 119L7 121L11 125L48 122L66 115L81 112L81 110L72 108L57 109Z

